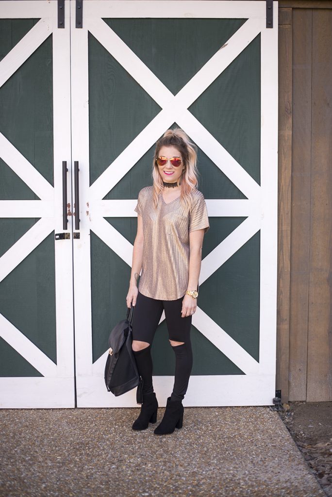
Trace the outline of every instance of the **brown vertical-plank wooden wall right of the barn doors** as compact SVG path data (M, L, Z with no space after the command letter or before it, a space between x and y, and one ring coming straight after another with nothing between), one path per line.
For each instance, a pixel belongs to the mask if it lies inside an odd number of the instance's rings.
M332 401L332 1L279 1L277 378Z

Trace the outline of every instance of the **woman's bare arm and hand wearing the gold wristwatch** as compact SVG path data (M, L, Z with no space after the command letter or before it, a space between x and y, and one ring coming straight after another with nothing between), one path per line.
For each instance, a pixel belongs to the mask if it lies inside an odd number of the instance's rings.
M196 290L198 285L198 277L201 270L202 261L202 245L205 230L195 230L189 233L189 280L187 290ZM190 295L185 295L182 300L182 314L185 318L196 311L197 299L193 299Z

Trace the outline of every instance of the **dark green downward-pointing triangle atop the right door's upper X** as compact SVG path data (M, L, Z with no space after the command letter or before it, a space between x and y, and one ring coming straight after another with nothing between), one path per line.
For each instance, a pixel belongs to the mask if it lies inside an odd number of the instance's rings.
M247 19L103 19L175 95Z

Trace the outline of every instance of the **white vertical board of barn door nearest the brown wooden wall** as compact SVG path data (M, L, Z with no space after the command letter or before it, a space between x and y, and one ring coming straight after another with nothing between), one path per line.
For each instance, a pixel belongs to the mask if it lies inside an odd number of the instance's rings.
M261 30L261 203L260 229L260 340L262 374L275 374L277 312L278 217L278 58L271 53L276 29ZM278 25L278 5L273 2L273 24ZM271 333L273 330L273 336Z

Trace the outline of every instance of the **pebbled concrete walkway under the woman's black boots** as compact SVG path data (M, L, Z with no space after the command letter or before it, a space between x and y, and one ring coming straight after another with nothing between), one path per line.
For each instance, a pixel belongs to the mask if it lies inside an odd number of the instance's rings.
M0 496L326 497L268 407L185 408L164 436L138 413L0 410Z

